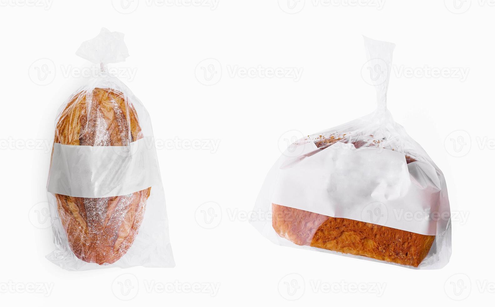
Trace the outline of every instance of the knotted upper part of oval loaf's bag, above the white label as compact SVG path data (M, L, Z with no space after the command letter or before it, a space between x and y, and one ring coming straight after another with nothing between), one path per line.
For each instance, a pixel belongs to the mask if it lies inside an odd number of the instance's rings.
M151 136L149 115L144 106L124 83L106 70L106 63L125 61L129 57L124 34L102 28L95 38L81 44L76 55L100 64L100 71L62 106L55 142L128 146Z

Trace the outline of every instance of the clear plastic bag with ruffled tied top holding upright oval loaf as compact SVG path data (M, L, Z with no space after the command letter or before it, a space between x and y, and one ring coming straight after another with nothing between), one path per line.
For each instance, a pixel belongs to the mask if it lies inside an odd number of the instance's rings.
M173 267L149 114L106 64L125 61L123 34L102 29L77 55L99 75L64 103L47 184L55 250L67 270Z

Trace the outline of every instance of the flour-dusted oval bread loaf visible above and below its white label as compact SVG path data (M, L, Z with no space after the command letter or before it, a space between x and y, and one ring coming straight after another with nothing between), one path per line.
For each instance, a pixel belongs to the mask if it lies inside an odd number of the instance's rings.
M121 92L95 88L89 96L85 91L77 93L62 111L55 130L56 143L125 146L143 137L136 110ZM120 259L138 234L150 190L148 187L103 198L55 194L74 254L98 264Z

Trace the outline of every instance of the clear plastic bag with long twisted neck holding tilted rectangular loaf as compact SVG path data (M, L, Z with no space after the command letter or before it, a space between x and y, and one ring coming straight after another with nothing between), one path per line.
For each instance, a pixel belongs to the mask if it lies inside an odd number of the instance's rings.
M251 223L272 242L409 268L448 263L444 175L386 107L394 47L365 38L377 110L297 140L268 173L254 211L271 220Z

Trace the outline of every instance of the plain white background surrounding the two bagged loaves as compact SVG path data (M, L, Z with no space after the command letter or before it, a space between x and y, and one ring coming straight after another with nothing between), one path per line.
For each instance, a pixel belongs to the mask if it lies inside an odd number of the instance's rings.
M120 0L1 0L1 305L493 302L495 6L315 1L169 0L161 6L135 0L126 10ZM53 249L44 208L54 120L88 80L79 72L92 64L75 51L102 26L125 33L131 57L109 66L120 69L151 114L155 137L166 144L158 156L173 269L68 272L45 258ZM389 109L445 174L453 251L441 270L276 246L243 218L285 138L374 110L374 89L361 75L362 34L396 43ZM296 67L302 75L242 77L241 68L258 66ZM208 81L201 67L217 73ZM431 68L446 73L432 76ZM184 149L194 140L220 143L216 151ZM205 202L218 206L200 207ZM215 214L205 222L201 210L209 207ZM196 283L219 289L186 293ZM287 285L296 288L288 292ZM385 286L383 293L378 286Z

